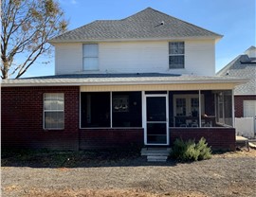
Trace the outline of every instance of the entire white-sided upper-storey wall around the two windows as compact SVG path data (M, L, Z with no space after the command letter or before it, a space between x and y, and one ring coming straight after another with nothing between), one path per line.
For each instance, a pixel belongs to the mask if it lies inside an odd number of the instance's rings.
M169 69L169 42L99 44L99 71L86 73L173 73L213 76L214 41L185 41L185 68ZM56 44L56 74L82 73L82 44ZM85 72L85 71L84 71Z

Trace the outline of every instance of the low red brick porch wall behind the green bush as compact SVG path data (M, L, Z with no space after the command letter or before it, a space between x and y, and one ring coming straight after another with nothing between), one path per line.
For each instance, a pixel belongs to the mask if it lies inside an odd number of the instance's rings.
M235 129L234 128L171 128L171 145L176 138L183 140L195 139L198 141L205 137L212 150L235 151Z

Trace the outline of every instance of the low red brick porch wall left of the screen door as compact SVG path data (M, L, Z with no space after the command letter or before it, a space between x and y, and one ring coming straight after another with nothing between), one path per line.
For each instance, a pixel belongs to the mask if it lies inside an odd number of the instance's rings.
M143 129L84 129L81 130L80 149L125 149L143 146L143 136Z

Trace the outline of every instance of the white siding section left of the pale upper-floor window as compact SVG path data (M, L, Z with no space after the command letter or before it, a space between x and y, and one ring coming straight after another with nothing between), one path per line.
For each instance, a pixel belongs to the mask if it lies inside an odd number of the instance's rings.
M55 45L55 74L73 74L82 71L82 44Z

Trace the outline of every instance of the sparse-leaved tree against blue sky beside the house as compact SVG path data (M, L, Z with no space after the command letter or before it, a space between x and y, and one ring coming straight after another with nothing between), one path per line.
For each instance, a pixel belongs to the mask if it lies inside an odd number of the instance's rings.
M57 0L2 0L1 9L1 77L20 78L50 52L47 41L64 32L67 21ZM15 58L21 55L18 63Z

